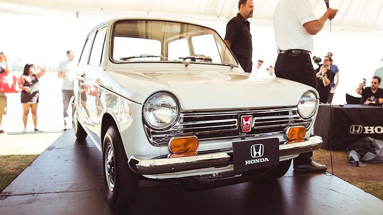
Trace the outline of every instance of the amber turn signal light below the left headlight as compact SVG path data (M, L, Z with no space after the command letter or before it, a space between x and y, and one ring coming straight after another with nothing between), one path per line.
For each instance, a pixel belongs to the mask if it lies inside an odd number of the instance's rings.
M169 150L173 154L185 153L190 156L198 148L198 138L196 136L175 137L169 142Z

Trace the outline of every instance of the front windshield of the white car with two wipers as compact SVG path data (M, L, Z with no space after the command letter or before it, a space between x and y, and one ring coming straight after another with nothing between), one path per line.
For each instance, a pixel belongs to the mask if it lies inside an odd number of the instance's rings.
M115 62L182 61L238 65L219 34L210 28L160 20L121 20L112 27Z

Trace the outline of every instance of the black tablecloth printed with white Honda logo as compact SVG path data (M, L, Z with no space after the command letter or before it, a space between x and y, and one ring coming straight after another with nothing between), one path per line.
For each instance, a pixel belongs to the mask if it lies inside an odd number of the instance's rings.
M383 107L320 105L314 134L322 136L323 149L344 151L358 138L383 139Z

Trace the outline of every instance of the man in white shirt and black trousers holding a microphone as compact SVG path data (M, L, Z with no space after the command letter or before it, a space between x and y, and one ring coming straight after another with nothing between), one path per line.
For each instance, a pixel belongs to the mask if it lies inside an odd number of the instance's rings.
M278 57L275 76L316 87L317 78L310 54L314 48L313 36L333 19L338 10L328 8L319 19L312 12L310 0L280 0L274 11L274 32ZM326 165L311 160L312 152L294 159L297 171L322 172Z

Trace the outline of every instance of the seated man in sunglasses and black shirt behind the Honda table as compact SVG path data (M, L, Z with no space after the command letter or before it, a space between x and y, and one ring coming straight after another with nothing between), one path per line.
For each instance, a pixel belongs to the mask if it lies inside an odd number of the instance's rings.
M372 77L371 87L366 87L365 83L359 83L356 93L362 95L360 103L363 105L382 105L383 104L383 89L380 89L381 78L378 76Z

